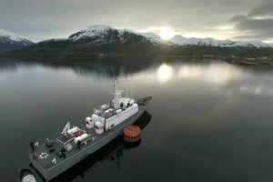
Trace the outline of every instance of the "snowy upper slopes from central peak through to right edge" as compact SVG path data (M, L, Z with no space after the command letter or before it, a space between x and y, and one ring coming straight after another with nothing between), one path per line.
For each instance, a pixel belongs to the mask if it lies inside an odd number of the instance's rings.
M205 46L219 46L219 47L273 47L272 44L266 44L258 41L232 41L232 40L217 40L214 38L187 38L182 35L175 35L168 41L163 40L159 35L153 32L136 32L130 29L116 29L109 25L91 25L85 30L81 30L68 38L74 41L81 39L93 40L93 43L109 43L109 41L126 42L128 38L138 36L141 41L149 40L154 45L158 44L174 44L174 45L205 45Z

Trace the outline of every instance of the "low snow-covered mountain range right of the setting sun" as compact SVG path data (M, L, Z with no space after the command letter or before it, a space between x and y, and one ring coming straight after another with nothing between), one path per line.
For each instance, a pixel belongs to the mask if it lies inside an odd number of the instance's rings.
M271 44L266 44L258 41L232 41L232 40L217 40L214 38L187 38L182 35L175 35L169 40L177 45L207 45L220 47L273 47Z

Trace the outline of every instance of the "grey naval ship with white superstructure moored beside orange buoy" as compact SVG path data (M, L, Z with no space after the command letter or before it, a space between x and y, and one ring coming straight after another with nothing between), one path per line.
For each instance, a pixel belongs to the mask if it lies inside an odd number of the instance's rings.
M140 99L122 97L122 90L115 88L114 98L95 108L81 126L66 124L62 132L41 141L30 142L28 155L32 166L49 181L76 165L90 154L104 147L123 128L132 125L145 112L152 96Z

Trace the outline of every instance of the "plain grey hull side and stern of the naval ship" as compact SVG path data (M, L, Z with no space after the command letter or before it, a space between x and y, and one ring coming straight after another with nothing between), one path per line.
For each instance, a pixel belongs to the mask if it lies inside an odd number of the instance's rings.
M89 155L96 152L101 147L104 147L107 143L112 141L116 136L122 135L123 128L127 125L132 125L136 122L136 120L142 116L144 111L146 110L147 104L151 100L151 96L139 99L139 106L138 106L138 112L130 116L126 119L123 123L119 124L118 126L115 126L113 129L108 131L106 133L106 136L102 137L101 139L97 140L96 142L92 143L91 145L87 147L82 147L80 151L78 151L76 154L74 154L71 157L66 157L65 160L59 162L57 165L53 167L43 167L35 157L33 157L32 153L29 153L29 157L31 159L31 162L35 169L45 178L46 181L51 180L52 178L60 175L64 171L66 171L68 168L73 167L78 162L83 160L84 158L88 157Z

